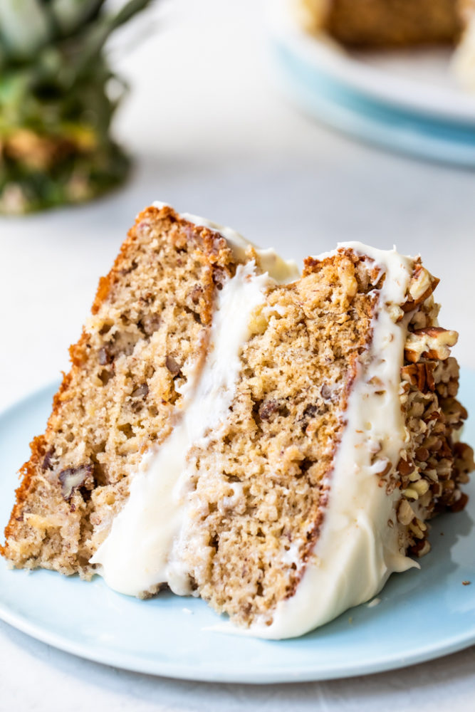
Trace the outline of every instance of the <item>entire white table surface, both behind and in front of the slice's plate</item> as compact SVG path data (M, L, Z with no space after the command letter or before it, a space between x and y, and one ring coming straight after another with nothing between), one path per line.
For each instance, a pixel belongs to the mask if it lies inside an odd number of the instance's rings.
M316 125L274 90L253 0L174 0L119 61L133 85L118 135L137 158L122 191L79 209L0 220L0 409L68 368L98 277L154 199L301 260L357 239L420 251L442 278L442 325L475 367L475 177L388 155ZM19 463L20 464L20 463ZM0 712L475 709L475 648L346 681L172 681L83 661L0 622Z

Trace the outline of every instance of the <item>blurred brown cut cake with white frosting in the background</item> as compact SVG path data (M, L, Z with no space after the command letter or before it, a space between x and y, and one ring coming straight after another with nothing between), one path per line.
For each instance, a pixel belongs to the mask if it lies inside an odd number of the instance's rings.
M474 0L293 0L303 26L348 48L449 44L454 75L475 90Z

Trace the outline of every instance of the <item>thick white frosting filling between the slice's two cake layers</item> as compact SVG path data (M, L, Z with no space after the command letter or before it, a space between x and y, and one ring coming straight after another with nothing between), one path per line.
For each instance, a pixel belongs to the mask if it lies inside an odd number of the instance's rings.
M209 429L219 428L234 397L241 346L249 339L251 312L263 302L269 276L253 261L239 265L217 295L207 359L187 372L182 408L172 434L150 448L132 478L130 497L115 517L108 537L91 558L108 585L140 595L167 583L189 593L186 572L172 548L186 526L186 473L189 448Z

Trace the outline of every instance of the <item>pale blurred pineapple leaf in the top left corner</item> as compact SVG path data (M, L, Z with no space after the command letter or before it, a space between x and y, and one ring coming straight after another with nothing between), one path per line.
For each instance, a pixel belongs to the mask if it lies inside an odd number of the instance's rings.
M0 0L0 35L14 58L30 58L51 38L41 0Z

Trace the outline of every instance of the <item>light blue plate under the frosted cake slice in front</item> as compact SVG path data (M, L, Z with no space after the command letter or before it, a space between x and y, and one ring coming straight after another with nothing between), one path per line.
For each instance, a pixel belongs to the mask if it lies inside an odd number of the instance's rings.
M0 521L13 502L16 469L44 428L55 388L0 416ZM475 372L461 397L475 412ZM465 438L475 442L475 422ZM201 600L171 594L140 601L100 578L12 571L0 562L0 617L60 649L98 662L216 682L322 680L389 670L475 643L475 487L469 508L434 523L422 570L393 575L374 607L362 605L302 638L263 641L209 630L219 620ZM471 585L463 585L463 581Z

